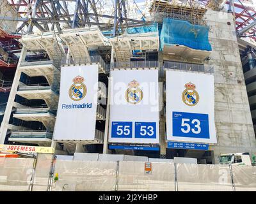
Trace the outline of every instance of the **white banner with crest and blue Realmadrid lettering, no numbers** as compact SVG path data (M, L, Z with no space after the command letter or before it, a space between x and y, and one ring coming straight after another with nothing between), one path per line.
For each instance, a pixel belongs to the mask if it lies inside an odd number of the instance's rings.
M54 140L94 140L98 65L61 68Z

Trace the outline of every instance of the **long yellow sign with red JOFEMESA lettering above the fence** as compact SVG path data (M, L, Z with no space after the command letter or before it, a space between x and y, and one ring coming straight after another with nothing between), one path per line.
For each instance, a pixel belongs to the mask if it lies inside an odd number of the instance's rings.
M53 154L54 148L53 147L24 146L24 145L0 145L0 151Z

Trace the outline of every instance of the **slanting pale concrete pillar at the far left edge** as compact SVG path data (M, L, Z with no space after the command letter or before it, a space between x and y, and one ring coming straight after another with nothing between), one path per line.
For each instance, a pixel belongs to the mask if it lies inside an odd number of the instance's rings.
M15 73L15 76L13 78L13 84L12 84L12 89L10 91L10 95L8 98L8 103L6 105L6 109L4 112L4 117L3 117L3 121L0 127L0 144L4 143L5 137L6 137L6 133L8 130L8 124L9 124L9 120L10 120L10 116L12 113L12 107L13 107L13 103L14 103L14 99L17 93L17 88L20 82L20 75L21 75L21 71L20 71L20 63L22 61L24 61L25 57L26 57L26 53L27 53L27 49L25 47L22 48L21 52L20 52L20 59L19 62L17 64L17 70Z

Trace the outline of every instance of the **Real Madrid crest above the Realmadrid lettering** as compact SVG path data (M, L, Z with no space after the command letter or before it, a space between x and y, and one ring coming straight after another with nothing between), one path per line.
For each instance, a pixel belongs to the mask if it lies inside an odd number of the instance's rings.
M86 86L83 84L84 78L77 76L73 78L74 84L71 85L68 93L69 97L74 101L80 101L86 95L87 89Z

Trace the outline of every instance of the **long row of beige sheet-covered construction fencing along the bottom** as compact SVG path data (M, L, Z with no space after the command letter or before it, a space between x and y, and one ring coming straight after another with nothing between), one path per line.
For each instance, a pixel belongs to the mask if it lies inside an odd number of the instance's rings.
M0 191L256 191L256 166L0 158Z

